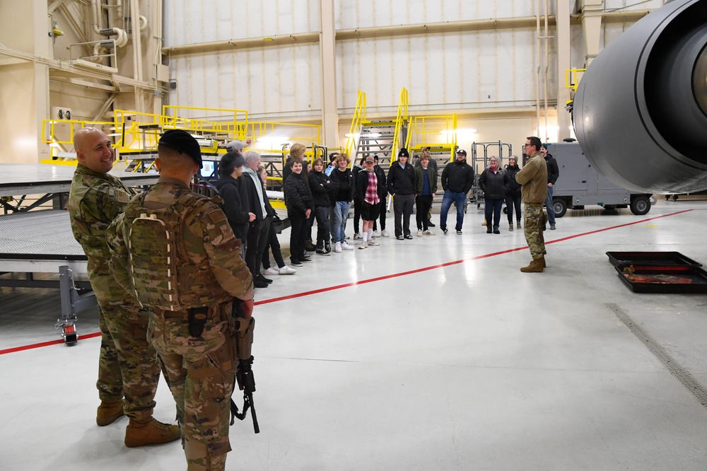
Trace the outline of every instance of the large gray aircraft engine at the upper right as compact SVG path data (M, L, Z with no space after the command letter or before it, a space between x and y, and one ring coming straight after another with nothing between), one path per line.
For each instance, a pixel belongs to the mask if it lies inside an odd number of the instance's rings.
M611 42L580 80L585 156L630 190L707 189L707 0L672 0Z

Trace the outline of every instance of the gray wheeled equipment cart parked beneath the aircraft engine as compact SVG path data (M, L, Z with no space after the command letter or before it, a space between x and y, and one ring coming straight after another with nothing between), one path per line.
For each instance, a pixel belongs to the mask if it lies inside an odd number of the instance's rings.
M637 216L650 211L650 194L631 193L614 185L585 158L578 143L548 144L547 151L556 158L560 170L552 196L555 217L561 218L567 209L584 209L586 204L605 209L630 207Z

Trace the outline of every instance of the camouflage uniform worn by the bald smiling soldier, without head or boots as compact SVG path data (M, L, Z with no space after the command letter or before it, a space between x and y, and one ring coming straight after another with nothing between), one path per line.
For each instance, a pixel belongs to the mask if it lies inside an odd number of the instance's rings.
M125 414L141 420L152 417L160 364L147 340L146 311L113 279L104 234L134 193L112 175L78 164L71 182L69 217L74 238L88 257L88 279L98 300L98 397L103 402L125 397Z

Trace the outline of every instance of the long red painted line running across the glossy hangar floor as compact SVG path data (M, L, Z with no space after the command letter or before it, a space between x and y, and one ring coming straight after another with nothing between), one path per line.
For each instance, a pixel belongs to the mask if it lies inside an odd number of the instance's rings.
M596 229L595 231L583 232L583 233L575 234L573 236L567 236L567 237L563 237L563 238L559 238L559 239L555 239L555 240L550 240L549 242L546 242L545 245L563 242L565 240L575 239L578 237L591 236L592 234L605 232L605 231L612 231L614 229L618 229L618 228L622 228L622 227L626 227L626 226L634 226L636 224L642 224L642 223L646 223L648 221L655 221L655 219L661 219L661 218L665 218L667 216L676 216L677 214L683 214L683 213L687 213L689 211L694 211L694 209L684 209L682 211L676 211L676 212L670 213L670 214L662 214L661 216L655 216L655 217L648 218L648 219L641 219L641 221L633 221L630 223L619 224L617 226L609 226L609 227L605 227L602 229ZM452 262L440 263L440 264L436 264L436 265L431 265L429 267L416 268L414 270L408 270L407 272L393 273L393 274L385 275L382 277L362 279L361 281L351 281L351 283L337 284L334 286L327 286L326 288L320 288L320 289L312 289L311 291L303 291L301 293L289 294L288 296L280 296L279 298L264 299L263 301L256 301L254 303L254 305L260 306L262 304L278 303L279 301L286 301L288 299L303 298L304 296L311 296L312 294L325 293L327 291L334 291L334 290L342 289L342 288L350 288L351 286L358 286L361 284L373 283L375 281L383 281L385 279L406 277L409 274L416 274L416 273L421 273L421 272L427 272L427 271L433 270L433 269L450 267L452 265L456 265L456 264L460 264L460 263L464 263L464 262L470 262L472 260L481 260L483 258L496 257L496 255L504 255L504 254L511 253L511 252L518 252L518 250L525 250L527 248L528 248L528 246L524 245L522 247L511 248L508 250L501 250L500 252L491 252L491 253L487 253L484 255L477 255L476 257L470 257L467 259L454 260ZM80 335L79 340L90 339L93 337L100 337L100 332L93 332L92 334ZM11 349L0 350L0 355L13 353L15 351L30 350L30 349L40 348L40 347L48 347L49 345L63 344L63 343L64 343L64 340L62 339L62 340L52 340L50 342L41 342L38 344L24 345L22 347L14 347Z

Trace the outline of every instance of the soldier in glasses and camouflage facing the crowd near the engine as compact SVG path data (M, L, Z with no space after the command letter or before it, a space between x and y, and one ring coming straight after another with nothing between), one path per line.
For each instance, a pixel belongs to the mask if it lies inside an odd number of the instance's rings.
M541 142L538 137L531 136L525 141L525 153L530 159L523 168L515 174L515 180L522 185L523 219L525 220L525 240L527 240L532 262L522 267L521 272L542 272L545 268L545 240L542 235L544 221L547 216L542 211L542 205L547 198L547 165L540 153Z

